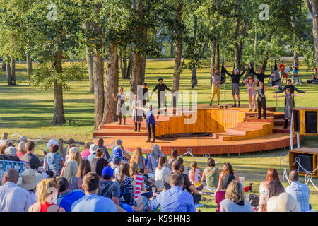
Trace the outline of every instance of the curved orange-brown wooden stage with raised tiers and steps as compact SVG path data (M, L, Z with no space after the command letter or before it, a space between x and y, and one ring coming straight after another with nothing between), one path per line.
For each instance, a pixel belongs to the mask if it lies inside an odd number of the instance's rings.
M196 155L213 155L289 147L290 128L282 129L285 123L283 113L275 112L275 107L267 108L267 119L257 119L257 112L249 112L247 105L240 108L230 106L228 109L218 109L216 106L198 105L194 111L196 114L192 116L180 112L173 116L160 115L156 119L156 143L166 155L173 148L178 150L179 155L186 153L189 148ZM191 117L197 118L195 123L184 123ZM93 141L98 143L98 139L103 138L105 145L108 145L121 139L127 151L134 151L136 147L147 150L154 143L146 142L145 121L141 124L140 132L134 132L131 118L126 119L126 125L118 125L118 122L105 124L94 132Z

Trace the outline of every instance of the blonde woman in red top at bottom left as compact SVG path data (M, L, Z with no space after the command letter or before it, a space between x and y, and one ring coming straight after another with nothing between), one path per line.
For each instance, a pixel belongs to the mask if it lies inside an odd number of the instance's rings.
M58 189L57 179L43 179L37 184L37 203L30 206L29 212L65 212L64 208L54 204Z

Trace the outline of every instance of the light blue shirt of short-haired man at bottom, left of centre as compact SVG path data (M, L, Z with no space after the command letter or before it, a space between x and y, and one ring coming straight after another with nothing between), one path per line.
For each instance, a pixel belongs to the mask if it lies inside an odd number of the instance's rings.
M117 212L117 208L110 198L88 194L73 203L71 212Z

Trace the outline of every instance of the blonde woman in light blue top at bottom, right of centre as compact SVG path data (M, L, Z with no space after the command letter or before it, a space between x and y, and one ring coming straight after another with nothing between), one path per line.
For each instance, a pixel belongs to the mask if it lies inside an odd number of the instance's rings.
M225 191L225 199L220 202L220 212L253 212L252 206L244 196L240 182L232 180Z

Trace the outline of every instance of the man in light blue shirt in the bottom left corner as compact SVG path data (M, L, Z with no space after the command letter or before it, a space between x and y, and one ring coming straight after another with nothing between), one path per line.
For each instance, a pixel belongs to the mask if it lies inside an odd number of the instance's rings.
M6 170L0 186L0 212L28 212L32 205L29 192L17 186L16 182L18 171Z

